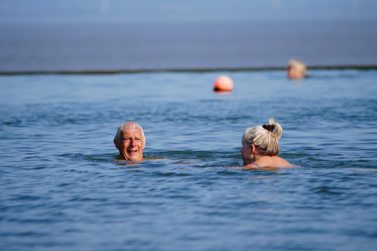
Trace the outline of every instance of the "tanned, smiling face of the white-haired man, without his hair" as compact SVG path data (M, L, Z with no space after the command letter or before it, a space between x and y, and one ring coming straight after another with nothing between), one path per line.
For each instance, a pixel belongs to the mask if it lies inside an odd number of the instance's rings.
M145 142L141 138L139 128L127 129L123 132L120 142L114 139L114 144L124 160L143 160Z

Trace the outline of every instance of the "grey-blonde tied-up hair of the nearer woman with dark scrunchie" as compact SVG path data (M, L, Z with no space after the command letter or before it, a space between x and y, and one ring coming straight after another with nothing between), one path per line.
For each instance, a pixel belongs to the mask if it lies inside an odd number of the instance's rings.
M275 132L265 129L263 126L247 128L242 134L242 145L247 144L250 147L254 144L262 155L276 156L280 153L279 138L282 135L282 127L274 122L274 119L268 119L268 124L273 126Z

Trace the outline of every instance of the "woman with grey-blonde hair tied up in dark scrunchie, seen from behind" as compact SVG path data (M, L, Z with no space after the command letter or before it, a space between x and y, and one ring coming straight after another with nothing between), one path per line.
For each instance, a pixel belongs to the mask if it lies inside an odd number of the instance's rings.
M242 135L243 169L258 167L292 167L288 161L277 157L280 153L279 138L283 129L271 118L269 125L247 128ZM275 130L275 132L274 132Z

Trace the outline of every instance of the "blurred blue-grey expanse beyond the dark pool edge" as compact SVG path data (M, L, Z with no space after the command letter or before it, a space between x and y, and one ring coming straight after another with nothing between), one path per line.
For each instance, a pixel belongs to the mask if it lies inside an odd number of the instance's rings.
M0 72L377 65L375 0L0 0Z

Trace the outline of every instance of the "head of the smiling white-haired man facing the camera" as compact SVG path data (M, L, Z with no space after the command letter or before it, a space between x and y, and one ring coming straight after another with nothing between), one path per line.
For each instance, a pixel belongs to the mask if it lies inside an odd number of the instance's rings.
M124 160L142 160L145 147L143 128L135 122L124 123L116 131L114 145Z

